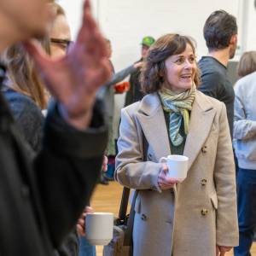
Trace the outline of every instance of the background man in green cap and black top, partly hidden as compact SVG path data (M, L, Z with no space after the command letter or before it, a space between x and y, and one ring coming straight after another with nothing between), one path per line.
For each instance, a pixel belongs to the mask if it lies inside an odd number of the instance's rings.
M143 61L143 59L148 54L149 47L154 44L154 38L152 37L145 37L142 41L142 57L139 61ZM128 106L134 102L138 102L143 98L143 92L141 91L141 83L140 83L140 75L141 75L141 68L138 68L136 72L131 74L130 77L130 90L127 91L125 96L125 106Z

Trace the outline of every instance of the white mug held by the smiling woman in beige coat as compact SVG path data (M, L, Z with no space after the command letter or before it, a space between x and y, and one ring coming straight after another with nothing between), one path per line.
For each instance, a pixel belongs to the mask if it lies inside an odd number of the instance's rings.
M177 179L179 182L187 177L189 158L180 154L170 154L160 158L160 163L168 166L167 177Z

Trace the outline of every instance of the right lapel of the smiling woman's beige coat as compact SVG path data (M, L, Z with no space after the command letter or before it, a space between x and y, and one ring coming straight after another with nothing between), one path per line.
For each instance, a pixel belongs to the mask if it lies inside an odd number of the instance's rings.
M216 109L213 108L212 102L207 100L201 92L196 91L195 102L190 114L189 134L183 152L184 155L189 157L189 168L207 140L215 113Z

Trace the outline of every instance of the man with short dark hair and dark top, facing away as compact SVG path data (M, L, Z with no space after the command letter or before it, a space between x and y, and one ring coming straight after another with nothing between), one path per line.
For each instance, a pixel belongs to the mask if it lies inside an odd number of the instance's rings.
M208 55L203 56L199 61L201 69L199 90L224 102L232 137L235 93L228 79L227 65L236 53L236 18L224 10L213 12L204 26L204 38L207 42Z

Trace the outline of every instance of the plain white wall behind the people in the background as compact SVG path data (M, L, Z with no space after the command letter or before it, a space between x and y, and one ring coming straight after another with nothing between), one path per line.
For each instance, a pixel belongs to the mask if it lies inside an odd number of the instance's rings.
M73 35L79 28L83 0L60 0L67 11ZM256 49L256 13L253 0L92 0L96 20L113 44L116 71L140 58L140 42L144 36L154 38L167 32L179 32L195 38L197 54L207 54L202 34L205 20L217 9L237 17L240 50ZM116 96L115 114L119 116L124 96ZM116 119L116 125L118 118Z

